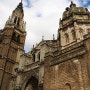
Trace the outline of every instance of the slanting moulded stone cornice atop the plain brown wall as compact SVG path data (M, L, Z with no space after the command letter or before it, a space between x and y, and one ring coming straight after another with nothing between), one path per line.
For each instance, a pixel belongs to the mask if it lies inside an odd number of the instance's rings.
M74 44L66 49L53 53L53 60L51 60L51 66L56 65L72 58L85 54L86 49L83 42Z

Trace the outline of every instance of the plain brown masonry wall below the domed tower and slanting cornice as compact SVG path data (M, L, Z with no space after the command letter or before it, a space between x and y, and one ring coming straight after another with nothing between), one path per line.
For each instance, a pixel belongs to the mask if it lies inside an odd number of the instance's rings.
M84 54L76 53L78 56L62 62L56 63L61 58L54 57L53 53L46 54L44 90L90 90L90 38L83 43Z

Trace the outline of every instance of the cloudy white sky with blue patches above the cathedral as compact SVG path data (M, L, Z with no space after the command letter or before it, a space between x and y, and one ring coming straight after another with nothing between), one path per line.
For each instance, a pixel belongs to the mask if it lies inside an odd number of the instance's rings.
M90 0L72 0L77 6L83 6L90 11ZM0 29L12 14L21 0L0 0ZM71 0L22 0L24 20L26 21L25 52L44 40L57 39L59 20Z

